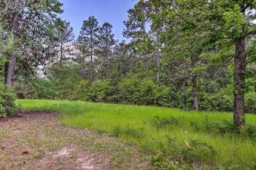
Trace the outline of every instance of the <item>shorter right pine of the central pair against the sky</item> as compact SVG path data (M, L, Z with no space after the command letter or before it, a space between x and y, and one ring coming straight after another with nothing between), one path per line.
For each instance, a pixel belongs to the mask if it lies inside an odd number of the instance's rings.
M114 34L112 34L112 25L104 23L99 29L98 35L98 60L99 73L104 79L110 74L110 63L113 58L113 47L115 45Z

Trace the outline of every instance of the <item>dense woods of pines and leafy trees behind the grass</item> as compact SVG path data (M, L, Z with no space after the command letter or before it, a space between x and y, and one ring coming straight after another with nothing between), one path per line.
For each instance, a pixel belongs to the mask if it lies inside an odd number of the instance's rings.
M256 112L254 1L141 0L127 41L94 16L75 39L61 5L1 1L1 82L18 97L233 112L237 126Z

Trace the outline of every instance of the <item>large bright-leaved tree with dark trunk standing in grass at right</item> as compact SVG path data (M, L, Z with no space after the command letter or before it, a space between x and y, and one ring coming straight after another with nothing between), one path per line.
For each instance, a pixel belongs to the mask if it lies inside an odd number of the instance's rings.
M235 126L244 126L245 40L256 33L250 12L255 9L255 1L152 0L152 3L165 7L165 16L179 23L183 32L198 32L197 39L204 41L208 49L215 49L220 44L235 46L233 119Z

